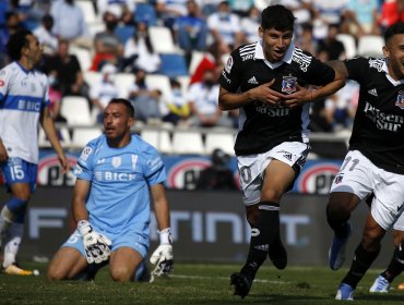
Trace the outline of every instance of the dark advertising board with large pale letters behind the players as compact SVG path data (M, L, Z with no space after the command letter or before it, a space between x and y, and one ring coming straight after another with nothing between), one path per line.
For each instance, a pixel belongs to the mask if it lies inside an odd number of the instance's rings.
M238 192L168 191L174 254L178 261L240 263L246 258L250 228ZM71 221L72 187L39 187L26 212L21 259L49 259L75 228ZM4 203L5 192L0 193ZM287 194L281 204L282 239L292 265L326 265L332 232L325 220L328 196ZM346 266L360 241L368 207L353 213L354 233ZM157 246L152 215L151 249ZM385 267L392 255L389 232L375 266Z

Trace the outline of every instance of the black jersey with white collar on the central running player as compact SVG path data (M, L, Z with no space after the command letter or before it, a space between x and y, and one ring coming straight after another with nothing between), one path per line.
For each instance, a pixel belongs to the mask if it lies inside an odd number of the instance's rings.
M275 78L273 89L296 91L296 83L322 86L334 80L334 70L310 53L290 45L284 61L271 64L264 59L261 41L235 49L222 72L219 83L230 93L247 91ZM284 142L308 142L309 108L294 109L254 100L240 109L237 156L261 154Z

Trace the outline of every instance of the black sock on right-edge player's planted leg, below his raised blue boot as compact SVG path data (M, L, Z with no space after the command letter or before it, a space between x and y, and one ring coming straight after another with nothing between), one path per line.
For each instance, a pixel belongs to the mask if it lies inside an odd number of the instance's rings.
M355 251L354 261L352 263L350 269L342 282L356 289L356 285L365 276L370 265L378 257L380 247L376 252L368 252L364 249L361 244L359 244Z

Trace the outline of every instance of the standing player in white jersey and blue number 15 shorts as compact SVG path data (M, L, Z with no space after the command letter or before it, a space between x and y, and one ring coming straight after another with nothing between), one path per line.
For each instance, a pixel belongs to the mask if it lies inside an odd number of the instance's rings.
M27 276L32 271L17 267L15 256L26 206L36 188L38 123L64 172L69 166L49 113L47 77L34 69L43 53L38 39L29 30L19 30L10 37L8 52L14 61L0 71L0 168L11 194L0 212L2 271Z

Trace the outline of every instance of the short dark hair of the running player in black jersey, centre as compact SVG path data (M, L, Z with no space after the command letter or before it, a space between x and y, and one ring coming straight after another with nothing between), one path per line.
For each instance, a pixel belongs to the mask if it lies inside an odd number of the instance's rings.
M292 11L284 5L270 5L261 13L261 27L262 29L294 30L295 20Z

